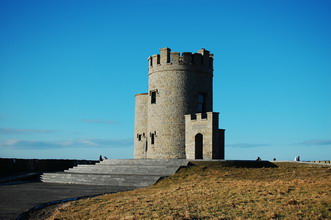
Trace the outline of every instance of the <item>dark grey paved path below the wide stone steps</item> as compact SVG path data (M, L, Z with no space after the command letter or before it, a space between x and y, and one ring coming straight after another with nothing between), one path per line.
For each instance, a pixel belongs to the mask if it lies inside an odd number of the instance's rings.
M0 219L15 219L31 208L51 201L125 190L128 189L42 182L0 185Z

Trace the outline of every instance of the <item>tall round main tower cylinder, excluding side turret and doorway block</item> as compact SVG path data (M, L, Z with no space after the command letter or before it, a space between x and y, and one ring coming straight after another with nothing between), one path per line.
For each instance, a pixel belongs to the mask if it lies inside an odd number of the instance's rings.
M213 55L170 51L148 58L148 94L139 97L148 99L144 158L186 158L185 115L213 111Z

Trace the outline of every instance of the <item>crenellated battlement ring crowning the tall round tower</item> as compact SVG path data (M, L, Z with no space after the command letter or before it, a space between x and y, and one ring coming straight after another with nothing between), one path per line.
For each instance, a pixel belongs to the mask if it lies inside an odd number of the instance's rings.
M203 69L212 71L213 54L203 48L198 53L183 52L182 55L179 52L171 52L170 48L161 48L160 54L148 57L148 69L150 72L167 67L202 67Z

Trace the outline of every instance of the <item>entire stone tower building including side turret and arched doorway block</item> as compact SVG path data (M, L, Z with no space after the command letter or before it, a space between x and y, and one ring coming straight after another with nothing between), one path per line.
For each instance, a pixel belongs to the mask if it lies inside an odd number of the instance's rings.
M136 95L134 157L223 159L224 130L218 129L218 114L207 117L213 111L212 100L209 51L180 55L162 48L149 57L148 93Z

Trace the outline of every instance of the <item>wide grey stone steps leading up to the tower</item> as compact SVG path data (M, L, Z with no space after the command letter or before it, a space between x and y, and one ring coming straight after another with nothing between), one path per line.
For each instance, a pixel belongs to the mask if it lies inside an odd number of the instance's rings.
M46 183L107 185L114 189L130 190L151 185L188 163L185 159L108 159L95 165L78 165L64 172L44 173L41 180Z

